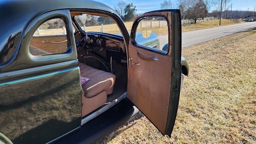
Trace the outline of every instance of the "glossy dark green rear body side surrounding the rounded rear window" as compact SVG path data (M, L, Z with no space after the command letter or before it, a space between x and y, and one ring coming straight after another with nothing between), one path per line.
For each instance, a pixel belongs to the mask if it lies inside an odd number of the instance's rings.
M67 28L67 51L32 56L34 32L56 17ZM23 33L15 58L0 69L0 132L13 143L48 143L81 125L80 70L69 10L31 18Z

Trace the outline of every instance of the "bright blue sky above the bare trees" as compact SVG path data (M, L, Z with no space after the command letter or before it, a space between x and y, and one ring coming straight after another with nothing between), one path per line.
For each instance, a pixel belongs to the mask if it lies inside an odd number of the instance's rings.
M99 1L113 8L120 0L94 0ZM160 3L164 0L124 0L126 3L133 3L137 7L138 13L144 13L151 10L160 10ZM176 8L176 0L171 0ZM232 10L249 10L253 11L256 6L256 0L231 0ZM213 9L216 9L215 7Z

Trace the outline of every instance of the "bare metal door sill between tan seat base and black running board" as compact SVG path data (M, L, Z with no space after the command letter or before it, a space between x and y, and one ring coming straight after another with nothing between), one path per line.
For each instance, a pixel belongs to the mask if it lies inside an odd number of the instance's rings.
M81 121L81 126L85 123L87 123L88 121L92 120L93 118L96 118L98 115L102 114L103 112L105 112L106 110L108 110L110 107L113 107L114 105L116 105L118 102L120 102L122 99L126 98L127 96L127 91L124 92L124 94L122 94L121 96L119 96L118 98L116 98L115 100L113 100L112 102L110 102L109 104L105 105L104 107L100 108L99 110L97 110L96 112L86 116L85 118L82 119Z

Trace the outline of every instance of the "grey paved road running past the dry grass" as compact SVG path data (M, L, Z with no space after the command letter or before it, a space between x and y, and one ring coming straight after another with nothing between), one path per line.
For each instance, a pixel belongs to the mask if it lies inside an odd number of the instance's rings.
M204 42L210 39L215 39L218 37L223 37L236 32L246 31L252 28L256 28L256 22L239 23L228 26L219 26L210 29L182 32L182 47ZM166 39L167 41L167 37L159 37L159 39L162 38ZM161 40L160 45L163 45L161 44Z

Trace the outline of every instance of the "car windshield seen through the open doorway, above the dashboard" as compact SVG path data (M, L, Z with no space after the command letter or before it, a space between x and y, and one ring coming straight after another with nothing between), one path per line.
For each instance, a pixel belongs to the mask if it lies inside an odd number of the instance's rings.
M119 36L121 34L116 22L109 17L82 14L76 15L75 20L86 32L102 32Z

